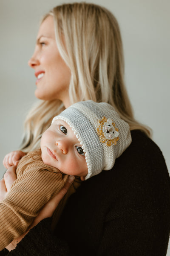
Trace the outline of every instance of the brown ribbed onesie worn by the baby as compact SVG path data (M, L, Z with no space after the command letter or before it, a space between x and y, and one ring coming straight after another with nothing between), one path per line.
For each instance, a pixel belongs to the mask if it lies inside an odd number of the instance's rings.
M42 162L40 149L22 157L16 174L17 180L0 202L0 250L28 229L42 206L62 189L68 179L68 175L59 169ZM65 199L75 192L80 183L79 179L74 182ZM65 203L66 200L60 203L60 209L57 209L53 218L54 224Z

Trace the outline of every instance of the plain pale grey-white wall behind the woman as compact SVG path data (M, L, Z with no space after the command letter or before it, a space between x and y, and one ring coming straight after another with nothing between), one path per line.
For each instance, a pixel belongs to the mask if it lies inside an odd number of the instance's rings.
M34 51L40 17L69 1L0 0L0 176L6 153L21 142L34 96ZM125 81L136 119L153 129L153 140L170 170L170 1L94 0L116 16L125 52ZM167 255L170 255L167 253Z

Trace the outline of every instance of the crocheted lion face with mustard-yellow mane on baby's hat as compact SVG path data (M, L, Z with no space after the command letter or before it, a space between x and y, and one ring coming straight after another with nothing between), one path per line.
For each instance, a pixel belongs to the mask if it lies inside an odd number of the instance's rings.
M96 131L99 134L100 142L106 143L107 146L116 145L119 140L119 130L115 127L113 120L103 116L102 119L98 120L98 123L99 126Z

